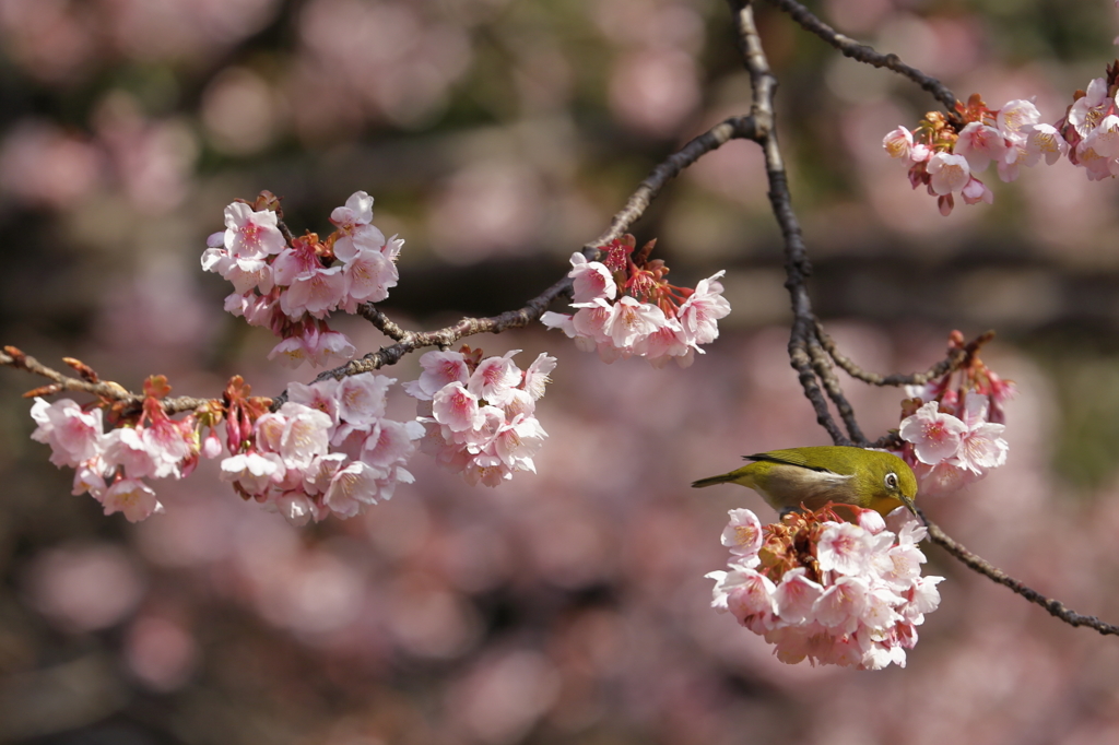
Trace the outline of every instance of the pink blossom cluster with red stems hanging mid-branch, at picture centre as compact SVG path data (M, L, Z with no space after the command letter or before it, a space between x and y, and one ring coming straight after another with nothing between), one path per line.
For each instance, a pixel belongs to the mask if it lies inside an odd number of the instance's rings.
M718 319L731 312L718 282L723 272L700 280L695 290L669 284L668 267L649 260L656 242L633 255L634 238L626 235L605 248L601 262L572 254L574 314L548 311L540 322L561 329L585 351L598 350L605 362L643 357L655 367L675 359L692 364L699 345L718 337Z

